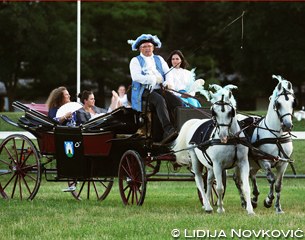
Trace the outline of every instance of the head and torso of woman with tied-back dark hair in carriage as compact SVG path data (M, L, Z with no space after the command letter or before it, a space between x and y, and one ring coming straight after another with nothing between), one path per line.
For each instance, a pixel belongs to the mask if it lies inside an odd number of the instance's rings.
M95 106L95 98L92 91L84 90L82 93L78 94L78 97L83 104L83 107L76 111L78 125L108 112L104 108Z

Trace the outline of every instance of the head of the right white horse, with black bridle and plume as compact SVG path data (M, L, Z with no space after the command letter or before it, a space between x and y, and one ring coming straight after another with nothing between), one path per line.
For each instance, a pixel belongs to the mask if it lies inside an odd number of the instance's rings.
M270 105L278 116L281 123L281 129L289 132L293 127L293 110L297 105L293 87L291 82L279 75L272 75L272 77L277 79L279 83L270 98Z

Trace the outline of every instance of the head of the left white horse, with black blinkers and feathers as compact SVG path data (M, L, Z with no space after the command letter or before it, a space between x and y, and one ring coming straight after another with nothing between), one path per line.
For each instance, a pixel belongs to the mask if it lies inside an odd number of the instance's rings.
M216 89L215 93L210 92L212 118L220 141L227 143L236 109L236 101L231 89L237 87L234 85L221 87L216 84L210 85L210 87Z

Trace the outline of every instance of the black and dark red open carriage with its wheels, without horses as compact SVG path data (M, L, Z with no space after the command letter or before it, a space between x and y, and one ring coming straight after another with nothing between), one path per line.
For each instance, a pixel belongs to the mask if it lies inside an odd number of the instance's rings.
M10 135L1 143L3 198L33 199L45 174L47 181L67 182L67 191L76 199L96 196L103 200L118 177L123 203L142 205L147 181L194 179L191 175L158 175L161 162L174 165L175 155L168 145L153 141L146 113L120 107L81 126L67 127L28 105L14 102L13 106L24 111L24 116L18 122L5 115L1 118L32 133L37 144L23 134ZM178 127L194 115L209 116L207 109L179 112Z

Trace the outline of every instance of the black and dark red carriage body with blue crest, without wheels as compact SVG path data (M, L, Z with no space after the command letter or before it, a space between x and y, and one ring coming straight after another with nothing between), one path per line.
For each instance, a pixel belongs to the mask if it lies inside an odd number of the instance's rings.
M25 115L18 123L10 123L32 133L40 154L56 160L57 180L116 177L125 151L143 153L145 139L136 134L143 123L140 113L131 108L120 107L81 126L68 127L20 102L13 106ZM44 164L44 170L52 169Z

